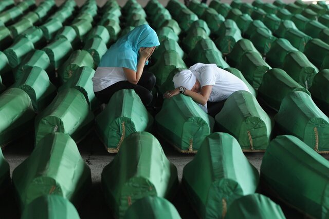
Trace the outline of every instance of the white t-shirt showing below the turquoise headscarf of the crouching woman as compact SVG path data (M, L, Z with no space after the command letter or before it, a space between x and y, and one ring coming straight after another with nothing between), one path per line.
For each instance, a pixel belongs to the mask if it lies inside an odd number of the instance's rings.
M127 81L122 67L97 67L93 77L94 92L101 91L120 81Z

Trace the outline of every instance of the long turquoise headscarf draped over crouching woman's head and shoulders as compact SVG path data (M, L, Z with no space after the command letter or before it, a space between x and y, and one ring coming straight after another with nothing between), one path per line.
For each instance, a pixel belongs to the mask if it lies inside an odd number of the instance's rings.
M159 46L156 32L146 24L122 36L102 56L98 67L125 67L137 71L139 49Z

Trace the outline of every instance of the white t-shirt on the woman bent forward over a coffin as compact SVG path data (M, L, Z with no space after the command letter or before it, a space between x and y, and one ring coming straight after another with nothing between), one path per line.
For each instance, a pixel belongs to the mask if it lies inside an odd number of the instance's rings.
M189 68L200 86L212 85L209 102L220 102L238 90L249 91L247 85L234 74L218 68L215 64L196 63Z

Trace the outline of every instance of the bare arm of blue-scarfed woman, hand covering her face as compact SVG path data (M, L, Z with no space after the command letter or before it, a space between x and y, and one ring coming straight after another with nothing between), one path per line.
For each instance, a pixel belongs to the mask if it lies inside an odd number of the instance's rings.
M138 63L137 63L137 71L123 67L123 71L127 77L128 82L135 84L135 85L138 83L140 77L142 76L145 62L152 55L154 48L155 47L139 49L139 59L138 59Z

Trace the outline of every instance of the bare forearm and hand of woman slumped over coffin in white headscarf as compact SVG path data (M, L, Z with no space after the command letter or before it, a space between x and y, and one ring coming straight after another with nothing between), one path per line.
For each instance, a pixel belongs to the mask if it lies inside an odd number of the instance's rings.
M203 86L201 88L200 93L196 93L191 90L185 89L184 95L190 96L193 99L193 101L204 106L208 102L211 89L212 89L212 85ZM175 90L167 91L164 97L171 98L172 96L175 96L177 94L179 94L179 88L176 88Z

